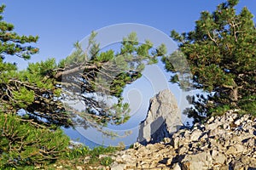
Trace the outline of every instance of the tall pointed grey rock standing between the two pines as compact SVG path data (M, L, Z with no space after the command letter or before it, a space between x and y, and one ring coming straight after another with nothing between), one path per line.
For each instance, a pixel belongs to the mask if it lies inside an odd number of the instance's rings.
M141 144L160 142L183 124L175 96L166 89L150 99L148 114L141 122L137 141Z

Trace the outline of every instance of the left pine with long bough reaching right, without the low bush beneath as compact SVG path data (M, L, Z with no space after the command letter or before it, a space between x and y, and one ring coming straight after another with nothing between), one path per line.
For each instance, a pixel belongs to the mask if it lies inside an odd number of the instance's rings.
M1 14L4 8L3 5ZM156 63L157 56L166 53L164 45L154 49L148 40L140 44L134 32L124 37L119 51L102 52L95 40L96 32L93 31L85 51L79 43L75 43L73 54L62 59L59 64L55 59L47 59L29 64L24 71L17 71L15 64L4 62L4 59L9 55L30 59L32 54L38 53L38 48L27 44L37 42L38 37L17 35L14 26L3 21L3 15L0 26L0 111L23 112L24 119L51 128L74 126L75 122L71 118L76 114L84 117L84 126L126 122L130 116L129 105L122 102L123 88L142 76L145 65ZM76 82L79 78L82 81ZM63 82L71 83L66 86ZM79 92L79 97L84 101L83 113L63 105L61 100L65 95L67 97L65 89ZM94 97L84 97L84 94L113 97L118 103L109 106ZM69 97L72 100L72 96Z

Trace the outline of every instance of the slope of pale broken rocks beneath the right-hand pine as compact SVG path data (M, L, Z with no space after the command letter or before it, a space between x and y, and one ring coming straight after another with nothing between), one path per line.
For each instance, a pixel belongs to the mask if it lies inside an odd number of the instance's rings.
M133 144L102 169L256 169L256 118L229 111L156 144Z

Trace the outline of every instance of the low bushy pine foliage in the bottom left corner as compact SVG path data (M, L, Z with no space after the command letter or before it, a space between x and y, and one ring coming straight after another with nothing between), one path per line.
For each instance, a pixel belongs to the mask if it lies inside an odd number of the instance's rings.
M48 164L67 149L69 139L58 129L33 126L11 114L0 114L0 167Z

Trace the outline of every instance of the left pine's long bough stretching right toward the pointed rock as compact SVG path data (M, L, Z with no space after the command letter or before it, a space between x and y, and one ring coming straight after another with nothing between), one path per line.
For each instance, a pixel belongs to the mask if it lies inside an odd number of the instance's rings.
M84 50L79 43L76 43L73 53L62 59L58 65L61 68L65 65L65 68L55 69L57 70L55 78L64 82L61 88L66 94L71 93L69 99L79 95L84 101L84 111L75 111L82 119L90 119L102 126L108 123L127 122L130 109L121 99L123 89L127 84L142 77L145 65L154 64L158 56L165 55L166 47L161 44L154 49L153 43L148 40L139 43L137 34L131 32L123 38L119 51L115 52L112 49L101 51L95 38L96 32L92 32L88 47ZM84 94L92 97L84 97ZM95 96L104 99L99 100ZM115 99L118 102L108 105L105 101L108 99ZM69 110L72 108L69 107Z

